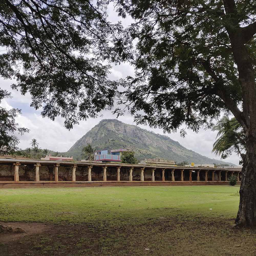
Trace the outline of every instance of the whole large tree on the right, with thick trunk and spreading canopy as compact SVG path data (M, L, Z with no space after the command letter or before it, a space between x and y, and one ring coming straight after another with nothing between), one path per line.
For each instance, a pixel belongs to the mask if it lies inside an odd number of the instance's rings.
M119 15L136 20L136 74L123 93L136 123L197 132L231 112L246 143L236 223L256 226L256 2L118 2Z

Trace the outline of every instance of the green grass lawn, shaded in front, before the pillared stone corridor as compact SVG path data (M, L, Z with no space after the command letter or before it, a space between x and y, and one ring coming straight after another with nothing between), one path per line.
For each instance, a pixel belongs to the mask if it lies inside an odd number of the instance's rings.
M1 243L0 255L255 255L255 231L233 228L238 190L2 189L1 221L41 222L48 229Z

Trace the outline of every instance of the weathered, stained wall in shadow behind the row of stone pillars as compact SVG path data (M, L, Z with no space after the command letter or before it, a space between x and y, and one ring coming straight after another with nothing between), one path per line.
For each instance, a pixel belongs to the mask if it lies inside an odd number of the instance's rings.
M35 166L34 164L30 165L20 165L19 166L19 180L20 181L35 181ZM215 181L218 180L218 170L214 173ZM221 180L225 181L226 170L221 171ZM130 168L121 167L120 168L120 180L129 180ZM134 168L133 180L140 181L141 179L141 168ZM156 169L154 172L155 181L162 180L162 169ZM175 181L180 181L180 170L174 170ZM228 171L228 177L232 175L232 171ZM237 175L237 173L234 173ZM117 168L115 166L109 166L106 169L107 180L117 180ZM241 173L239 174L241 178ZM103 180L103 168L102 166L93 166L91 169L92 181L102 181ZM189 170L183 171L184 181L189 180ZM45 165L39 167L39 178L41 181L55 180L55 167L54 165ZM205 171L201 170L199 172L200 181L205 180ZM207 174L208 181L212 180L212 172L208 171ZM58 167L58 180L59 181L71 181L72 179L72 166L59 166ZM13 164L1 164L0 165L0 181L13 181L14 180L14 165ZM88 180L88 167L87 166L78 166L76 167L76 180L77 181L87 181ZM152 168L146 167L144 169L144 180L152 180ZM165 181L172 180L172 169L165 169ZM192 181L197 180L197 170L192 172Z

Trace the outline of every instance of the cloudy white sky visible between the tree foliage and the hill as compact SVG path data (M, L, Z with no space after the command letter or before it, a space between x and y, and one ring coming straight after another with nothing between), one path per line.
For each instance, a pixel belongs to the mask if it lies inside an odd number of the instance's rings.
M116 15L114 8L110 7L109 10L109 20L110 22L115 23L119 17ZM127 17L122 21L124 26L127 26L131 23L131 19ZM110 79L120 79L126 78L128 75L133 74L133 67L129 63L121 63L121 65L114 66L112 72L109 76ZM12 92L11 99L4 99L0 106L6 109L19 108L22 109L22 114L16 118L16 122L20 127L26 127L30 131L25 133L23 136L16 134L20 139L18 145L19 148L25 149L29 147L30 142L33 138L39 143L39 147L44 149L48 148L53 151L66 152L69 148L79 140L84 134L97 125L102 119L114 119L115 115L111 111L102 111L99 113L98 117L95 119L87 119L86 121L80 121L79 125L75 125L72 130L68 131L63 127L64 120L61 117L57 117L55 121L51 121L48 118L42 118L40 112L42 109L35 110L30 107L31 98L29 94L25 96L21 95L18 91L14 91L10 88L10 85L15 81L4 80L0 77L0 88L6 89L9 92ZM129 114L124 116L119 116L118 120L127 123L134 124L133 117ZM151 129L148 126L138 125L143 129L153 131L155 133L164 134L161 129ZM180 137L179 131L177 133L165 134L171 139L178 141L184 147L193 150L201 155L214 158L219 160L219 156L215 156L212 153L212 145L216 140L217 132L212 132L211 130L201 129L198 133L195 133L191 130L186 130L187 135L185 138ZM175 160L175 159L169 159ZM236 154L233 154L229 158L225 159L226 162L234 163L235 165L239 164L239 157ZM216 161L218 162L218 161Z

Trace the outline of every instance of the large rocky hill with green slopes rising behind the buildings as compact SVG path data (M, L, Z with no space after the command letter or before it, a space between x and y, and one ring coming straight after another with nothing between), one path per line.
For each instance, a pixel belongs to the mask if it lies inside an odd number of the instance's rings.
M136 157L156 158L156 156L174 160L177 163L216 163L217 160L202 156L180 145L168 136L156 134L138 126L125 124L116 119L104 119L80 138L67 152L78 156L87 143L98 146L98 150L129 148L135 151ZM226 163L217 161L218 163Z

